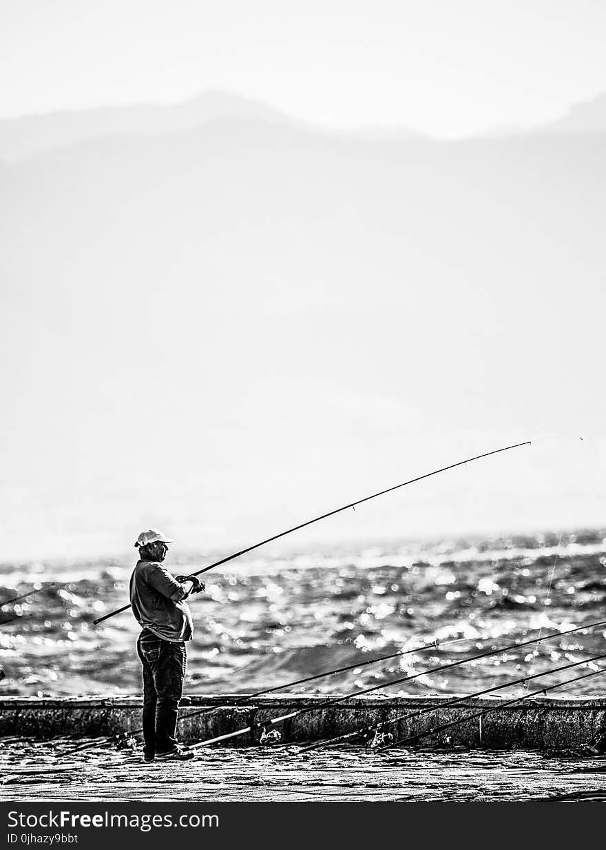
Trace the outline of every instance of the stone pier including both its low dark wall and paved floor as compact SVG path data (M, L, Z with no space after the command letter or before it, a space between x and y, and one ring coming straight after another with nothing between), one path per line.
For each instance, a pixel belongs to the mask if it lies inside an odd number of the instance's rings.
M494 697L448 706L449 699L366 697L321 707L322 697L300 694L198 696L180 711L184 742L310 711L278 724L282 738L271 747L259 745L256 729L198 750L192 762L149 764L134 738L131 749L102 745L101 736L139 727L140 698L5 698L0 800L606 801L606 757L584 758L576 749L603 728L603 698L539 697L518 706ZM405 737L486 709L482 723L472 718L422 739L426 749L377 750L356 740L300 754L306 742L391 717L405 716L389 728ZM82 744L90 746L75 751Z

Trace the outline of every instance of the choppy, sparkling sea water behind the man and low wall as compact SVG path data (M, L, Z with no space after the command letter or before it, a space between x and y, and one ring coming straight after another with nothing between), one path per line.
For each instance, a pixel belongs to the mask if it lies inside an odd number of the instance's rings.
M564 635L444 672L426 672L534 635L606 620L606 531L432 542L373 542L241 558L204 576L191 598L187 694L247 693L335 667L349 672L290 691L332 694L381 685L380 694L474 693L606 654L606 630ZM173 555L174 572L225 553ZM133 561L0 565L0 696L138 694L138 626L128 602ZM53 583L54 582L54 583ZM463 638L463 639L460 639ZM379 655L437 647L362 666ZM456 643L448 643L456 641ZM606 659L603 662L606 667ZM593 668L596 668L593 665ZM590 667L590 669L592 669ZM597 668L596 668L597 669ZM573 668L530 690L589 672ZM418 675L421 674L421 675ZM412 677L409 682L393 683ZM523 694L521 687L501 694ZM606 693L606 674L553 696Z

